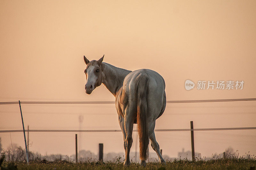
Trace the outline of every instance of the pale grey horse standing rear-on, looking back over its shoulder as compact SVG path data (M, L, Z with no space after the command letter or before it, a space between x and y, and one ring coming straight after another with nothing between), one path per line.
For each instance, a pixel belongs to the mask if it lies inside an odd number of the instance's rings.
M131 164L129 155L134 123L137 123L140 142L140 165L146 166L149 139L160 163L165 164L154 132L156 119L164 113L166 106L164 78L149 69L130 71L115 67L102 62L103 57L89 61L84 56L85 92L91 94L103 84L115 96L118 122L124 137L124 166Z

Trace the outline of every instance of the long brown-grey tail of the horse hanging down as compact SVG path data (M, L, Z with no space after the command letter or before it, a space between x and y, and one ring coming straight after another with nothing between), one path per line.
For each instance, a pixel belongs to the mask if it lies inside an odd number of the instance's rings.
M148 75L142 74L135 79L136 105L137 105L137 129L140 142L140 159L148 159Z

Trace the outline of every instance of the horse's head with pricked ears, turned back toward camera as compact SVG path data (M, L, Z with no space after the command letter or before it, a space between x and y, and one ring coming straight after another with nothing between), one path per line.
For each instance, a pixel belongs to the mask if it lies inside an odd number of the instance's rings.
M104 57L104 55L103 55ZM92 60L89 61L84 56L84 62L86 64L86 68L84 73L86 75L86 84L85 84L85 92L87 94L91 94L92 91L101 85L102 83L102 70L101 70L101 63L103 61L103 57L101 57L98 61Z

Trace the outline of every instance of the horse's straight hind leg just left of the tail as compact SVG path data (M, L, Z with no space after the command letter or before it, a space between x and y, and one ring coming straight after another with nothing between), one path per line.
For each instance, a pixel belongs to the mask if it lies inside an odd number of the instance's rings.
M134 122L134 113L132 112L131 109L126 108L125 109L125 114L124 114L124 129L126 133L126 138L125 138L125 147L126 147L126 152L125 152L125 161L124 161L124 166L129 166L131 164L130 162L130 150L132 147L132 129L133 129L133 122Z

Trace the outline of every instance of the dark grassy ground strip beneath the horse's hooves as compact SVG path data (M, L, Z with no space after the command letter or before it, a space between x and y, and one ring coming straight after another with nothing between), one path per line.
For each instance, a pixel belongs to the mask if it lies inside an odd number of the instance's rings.
M9 162L3 162L2 167L7 167ZM159 163L147 163L146 167L141 167L139 164L132 163L129 167L124 167L123 163L113 162L91 162L91 163L69 163L69 162L48 162L38 163L31 162L29 164L23 162L15 162L19 170L75 170L75 169L246 169L255 170L255 159L216 159L208 161L188 161L174 160L167 162L165 166Z

